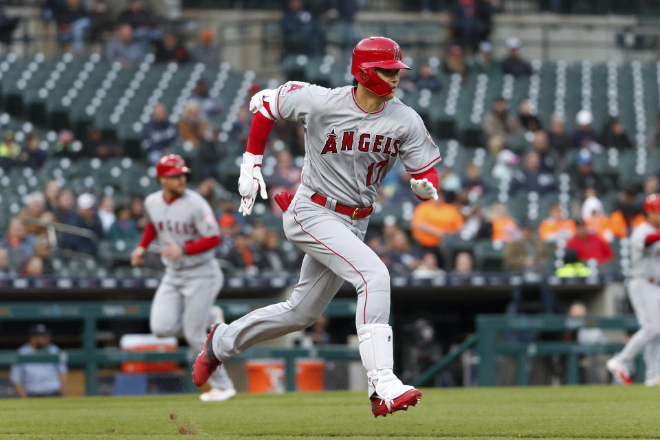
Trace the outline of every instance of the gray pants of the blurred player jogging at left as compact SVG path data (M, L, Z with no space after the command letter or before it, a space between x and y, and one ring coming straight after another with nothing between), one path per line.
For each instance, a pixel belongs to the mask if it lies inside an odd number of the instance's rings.
M166 273L151 303L149 325L155 336L184 336L192 350L199 353L206 343L210 309L224 283L217 261L212 260L194 273ZM203 275L199 273L202 272ZM234 388L224 366L209 378L213 388Z

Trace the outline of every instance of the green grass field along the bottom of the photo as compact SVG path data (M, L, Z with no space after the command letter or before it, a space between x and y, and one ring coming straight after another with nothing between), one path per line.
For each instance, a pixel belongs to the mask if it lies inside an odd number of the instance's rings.
M660 389L425 389L374 419L365 393L0 400L0 439L660 439Z

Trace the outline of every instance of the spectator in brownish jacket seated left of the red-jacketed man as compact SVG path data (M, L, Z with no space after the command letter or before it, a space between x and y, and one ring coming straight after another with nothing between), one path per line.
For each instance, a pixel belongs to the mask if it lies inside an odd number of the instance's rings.
M519 239L509 241L504 247L503 263L511 272L543 272L543 262L552 255L545 243L534 234L531 225L520 228Z

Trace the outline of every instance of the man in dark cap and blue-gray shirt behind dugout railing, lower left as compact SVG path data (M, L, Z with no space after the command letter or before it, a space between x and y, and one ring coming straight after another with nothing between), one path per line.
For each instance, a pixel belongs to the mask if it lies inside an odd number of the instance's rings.
M56 355L60 349L50 343L50 331L43 324L30 327L27 344L19 347L19 355L45 352ZM26 397L54 397L66 394L67 365L64 362L25 362L12 365L10 380L16 393Z

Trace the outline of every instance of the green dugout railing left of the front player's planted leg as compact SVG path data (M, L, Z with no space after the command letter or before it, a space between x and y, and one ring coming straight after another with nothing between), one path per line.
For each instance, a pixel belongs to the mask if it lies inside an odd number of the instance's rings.
M219 300L227 318L239 318L248 312L272 304L272 300ZM333 300L325 315L332 317L355 316L355 300ZM175 361L186 364L188 368L195 361L196 353L188 348L176 351L136 352L122 351L116 348L96 347L96 329L99 320L147 320L151 302L107 302L107 303L0 303L2 321L58 321L79 320L83 322L81 334L83 347L63 349L58 354L19 355L14 350L0 351L0 366L10 366L17 362L61 362L69 366L81 366L85 370L85 394L96 395L98 392L98 367L100 364L121 364L127 361ZM360 360L357 347L343 344L326 344L311 349L289 347L252 347L232 360L250 358L281 358L285 360L287 391L296 390L297 358L322 358L325 360ZM197 388L188 376L188 390Z

